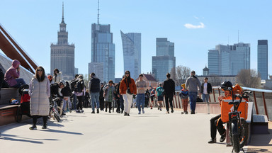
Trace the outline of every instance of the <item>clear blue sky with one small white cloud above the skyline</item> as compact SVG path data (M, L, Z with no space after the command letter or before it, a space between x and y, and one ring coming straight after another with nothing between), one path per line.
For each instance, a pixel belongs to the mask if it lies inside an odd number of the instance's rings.
M59 0L1 0L0 23L26 52L50 72L50 44L57 42L62 20ZM176 66L202 74L208 50L215 45L251 44L251 69L257 69L257 41L268 40L271 74L272 1L100 0L100 23L111 24L115 43L115 77L121 77L123 33L142 33L142 72L152 70L156 38L175 43ZM97 0L64 0L68 41L75 45L75 67L88 73L91 24L97 23Z

